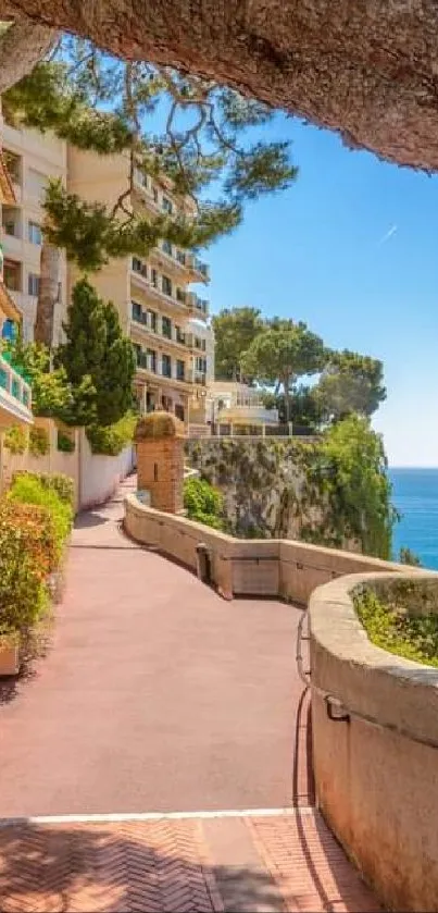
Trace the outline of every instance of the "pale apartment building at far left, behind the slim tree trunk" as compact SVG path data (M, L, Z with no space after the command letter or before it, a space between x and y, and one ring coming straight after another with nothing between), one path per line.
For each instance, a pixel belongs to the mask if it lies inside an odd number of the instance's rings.
M49 177L66 184L66 144L50 134L15 129L0 123L3 155L11 176L15 202L1 206L1 244L4 285L23 314L23 337L34 338L39 287L41 200ZM61 257L59 304L55 311L53 343L60 342L61 320L66 303L66 261Z

